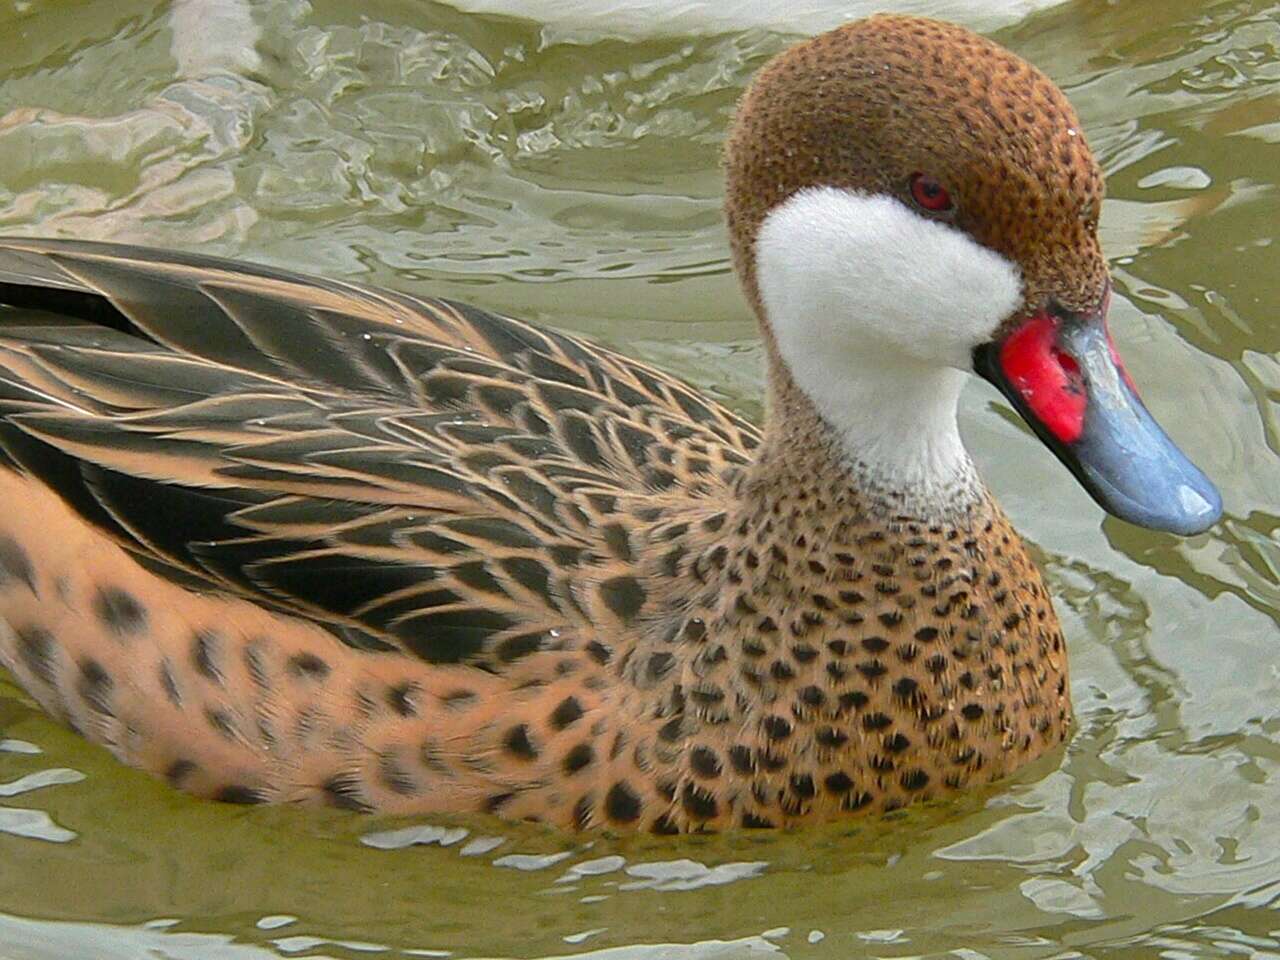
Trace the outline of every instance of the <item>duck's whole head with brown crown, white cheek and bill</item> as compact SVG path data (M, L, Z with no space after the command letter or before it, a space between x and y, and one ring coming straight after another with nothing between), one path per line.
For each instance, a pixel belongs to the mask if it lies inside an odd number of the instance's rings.
M771 419L812 404L865 483L945 509L980 489L956 430L977 372L1108 512L1219 518L1107 332L1102 173L1039 70L951 24L859 20L762 70L726 168Z

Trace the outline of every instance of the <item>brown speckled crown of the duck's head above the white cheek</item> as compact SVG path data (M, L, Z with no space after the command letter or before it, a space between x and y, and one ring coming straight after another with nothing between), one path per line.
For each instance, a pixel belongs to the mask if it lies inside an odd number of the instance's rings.
M910 204L937 177L955 225L1016 264L1025 307L1094 305L1106 285L1096 230L1102 173L1062 92L963 27L872 17L805 41L760 70L726 151L733 261L759 312L755 237L805 187Z

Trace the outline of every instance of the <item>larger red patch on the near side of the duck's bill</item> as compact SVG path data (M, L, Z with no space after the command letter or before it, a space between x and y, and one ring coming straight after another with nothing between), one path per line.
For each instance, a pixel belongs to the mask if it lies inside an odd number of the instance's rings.
M1038 314L1000 347L1000 367L1030 413L1061 443L1084 433L1084 376L1080 365L1057 348L1057 321Z

